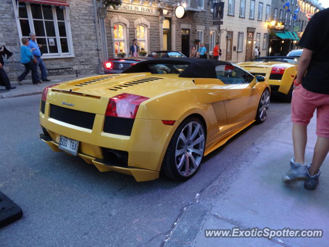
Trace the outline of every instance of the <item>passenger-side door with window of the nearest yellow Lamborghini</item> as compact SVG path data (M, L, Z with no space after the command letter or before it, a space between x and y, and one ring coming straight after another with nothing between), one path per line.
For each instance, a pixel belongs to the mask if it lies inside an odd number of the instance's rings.
M253 77L234 65L216 66L216 76L225 84L233 85L224 91L228 126L234 130L254 119L257 89L249 86Z

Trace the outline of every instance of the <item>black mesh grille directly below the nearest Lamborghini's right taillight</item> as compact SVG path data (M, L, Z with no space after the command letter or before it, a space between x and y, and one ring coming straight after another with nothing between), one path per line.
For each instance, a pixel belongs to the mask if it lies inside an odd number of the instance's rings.
M134 121L134 118L105 116L103 131L116 135L130 136Z

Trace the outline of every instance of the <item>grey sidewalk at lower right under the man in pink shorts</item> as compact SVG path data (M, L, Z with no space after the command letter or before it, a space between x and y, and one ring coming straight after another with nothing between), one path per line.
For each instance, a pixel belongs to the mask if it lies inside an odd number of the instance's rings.
M282 174L288 169L293 154L290 115L254 140L254 158L245 162L237 174L227 170L195 202L182 209L165 247L172 246L328 246L329 242L329 167L321 167L316 190L307 190L303 182L285 185ZM305 161L310 162L316 142L315 117L308 127ZM242 161L244 162L244 161ZM224 181L224 182L223 182ZM226 181L226 183L225 183ZM229 187L227 187L229 181ZM320 229L322 238L206 238L205 230Z

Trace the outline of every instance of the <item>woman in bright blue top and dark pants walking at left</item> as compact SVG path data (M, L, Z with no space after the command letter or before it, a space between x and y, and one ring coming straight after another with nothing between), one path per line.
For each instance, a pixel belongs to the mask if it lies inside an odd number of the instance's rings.
M29 40L27 38L22 38L23 45L21 46L21 63L25 66L25 71L22 75L17 78L19 80L20 85L23 85L22 81L29 74L30 70L32 72L32 82L33 84L40 84L41 81L38 79L38 72L36 72L36 68L34 65L32 51L27 47L29 45ZM33 48L35 49L35 48Z

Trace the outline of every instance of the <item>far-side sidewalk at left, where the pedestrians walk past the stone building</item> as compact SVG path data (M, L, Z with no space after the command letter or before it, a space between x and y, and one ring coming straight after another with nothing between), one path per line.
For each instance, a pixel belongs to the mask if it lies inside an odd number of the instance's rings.
M12 86L16 86L16 88L12 90L6 90L4 86L0 86L0 99L42 94L42 90L45 86L87 76L93 75L79 75L78 77L75 75L48 76L48 79L51 81L43 81L41 84L37 85L34 85L32 80L24 80L23 85L20 85L17 81L11 81L10 84Z

